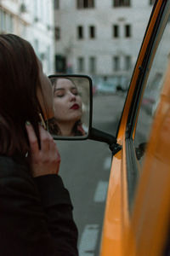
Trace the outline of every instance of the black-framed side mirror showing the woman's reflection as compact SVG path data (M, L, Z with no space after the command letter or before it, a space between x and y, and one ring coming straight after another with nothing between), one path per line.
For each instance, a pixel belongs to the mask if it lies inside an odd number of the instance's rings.
M54 139L86 139L92 123L92 80L82 75L50 75L54 118L48 131Z

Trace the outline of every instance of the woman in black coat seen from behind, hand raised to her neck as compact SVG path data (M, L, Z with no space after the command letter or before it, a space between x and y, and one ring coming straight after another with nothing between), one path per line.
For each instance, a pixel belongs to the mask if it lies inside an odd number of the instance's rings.
M0 254L77 255L77 227L53 138L51 84L34 50L0 35Z

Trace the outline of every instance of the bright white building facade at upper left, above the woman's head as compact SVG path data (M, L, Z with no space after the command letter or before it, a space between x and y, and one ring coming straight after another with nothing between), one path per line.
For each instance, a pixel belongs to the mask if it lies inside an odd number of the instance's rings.
M0 0L0 32L26 38L42 61L44 72L54 73L53 0Z

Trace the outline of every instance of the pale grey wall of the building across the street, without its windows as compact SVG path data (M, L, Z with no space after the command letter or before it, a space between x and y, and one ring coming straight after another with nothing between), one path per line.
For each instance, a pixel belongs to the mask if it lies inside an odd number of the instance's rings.
M131 55L135 64L152 9L149 0L132 0L131 7L127 8L113 8L112 0L96 0L94 9L77 9L76 2L60 0L59 9L55 10L55 26L61 29L61 39L55 44L56 54L66 55L74 73L77 73L77 57L84 57L86 67L83 73L87 74L90 74L88 58L95 56L98 76L113 75L112 58L119 55L122 70L115 74L126 73L123 70L124 58ZM120 26L119 38L112 37L113 24ZM132 26L131 38L124 37L126 24ZM88 37L88 26L92 25L96 27L95 39ZM77 40L77 26L83 26L82 40Z

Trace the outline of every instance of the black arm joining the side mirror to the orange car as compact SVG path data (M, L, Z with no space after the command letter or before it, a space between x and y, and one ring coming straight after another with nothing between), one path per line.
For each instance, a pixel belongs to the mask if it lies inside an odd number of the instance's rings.
M90 130L90 134L88 138L90 140L109 144L110 146L109 148L111 149L111 152L113 155L122 149L122 146L116 143L116 137L104 131L95 129L93 127Z

